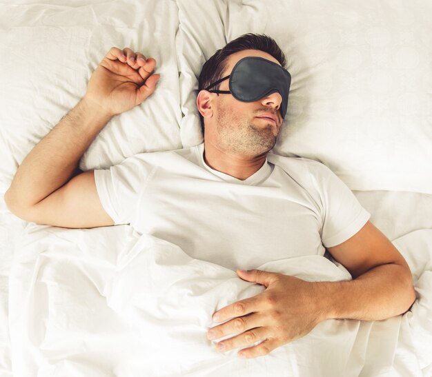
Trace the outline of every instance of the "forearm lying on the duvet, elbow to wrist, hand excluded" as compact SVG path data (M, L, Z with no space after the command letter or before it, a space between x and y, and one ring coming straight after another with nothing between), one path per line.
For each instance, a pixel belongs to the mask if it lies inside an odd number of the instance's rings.
M353 281L314 283L324 319L382 320L406 312L415 300L411 272L380 265Z

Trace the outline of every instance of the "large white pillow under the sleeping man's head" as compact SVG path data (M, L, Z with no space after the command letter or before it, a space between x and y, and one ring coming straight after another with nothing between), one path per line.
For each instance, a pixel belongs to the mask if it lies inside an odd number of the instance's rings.
M202 137L190 89L204 61L242 34L267 34L292 75L274 152L321 161L351 190L432 193L431 1L177 4L184 145Z

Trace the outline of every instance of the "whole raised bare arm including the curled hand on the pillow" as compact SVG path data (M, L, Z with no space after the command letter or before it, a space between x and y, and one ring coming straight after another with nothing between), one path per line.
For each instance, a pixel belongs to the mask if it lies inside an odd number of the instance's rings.
M84 98L19 166L4 196L12 213L61 227L113 225L99 201L93 171L81 172L79 159L112 116L139 105L155 91L160 77L153 74L155 63L130 48L108 51Z

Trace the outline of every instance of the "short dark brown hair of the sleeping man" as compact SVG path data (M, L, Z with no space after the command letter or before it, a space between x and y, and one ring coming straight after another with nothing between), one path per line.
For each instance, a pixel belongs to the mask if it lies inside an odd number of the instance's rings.
M286 68L285 54L279 48L275 40L265 34L243 34L242 36L230 41L224 48L221 48L210 57L202 66L201 74L198 79L198 91L208 87L211 83L222 79L222 73L226 70L228 57L235 52L242 50L261 50L271 54L283 68ZM219 90L221 83L215 85L212 90ZM219 94L217 94L219 96ZM204 135L204 117L199 114L201 129Z

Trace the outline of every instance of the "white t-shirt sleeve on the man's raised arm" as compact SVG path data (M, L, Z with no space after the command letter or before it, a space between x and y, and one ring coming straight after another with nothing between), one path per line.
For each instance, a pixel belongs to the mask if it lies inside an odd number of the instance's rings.
M155 169L141 155L128 157L109 169L95 170L97 194L114 225L136 220L139 199Z

